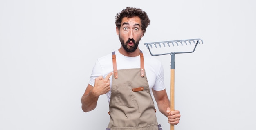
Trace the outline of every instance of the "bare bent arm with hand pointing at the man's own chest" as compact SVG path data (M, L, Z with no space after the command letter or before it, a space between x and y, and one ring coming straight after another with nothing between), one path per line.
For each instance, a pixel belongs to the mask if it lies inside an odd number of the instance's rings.
M106 78L99 76L95 79L94 87L88 84L85 93L81 98L82 110L84 112L89 112L94 110L97 105L97 101L100 95L106 94L110 90L110 76L112 72L109 73Z

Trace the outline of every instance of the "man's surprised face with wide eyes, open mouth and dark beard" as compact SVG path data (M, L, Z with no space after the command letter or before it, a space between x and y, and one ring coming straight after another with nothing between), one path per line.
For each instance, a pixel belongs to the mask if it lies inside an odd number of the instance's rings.
M124 17L120 30L117 28L117 35L119 35L119 40L126 52L134 52L143 36L141 19L138 16L132 18Z

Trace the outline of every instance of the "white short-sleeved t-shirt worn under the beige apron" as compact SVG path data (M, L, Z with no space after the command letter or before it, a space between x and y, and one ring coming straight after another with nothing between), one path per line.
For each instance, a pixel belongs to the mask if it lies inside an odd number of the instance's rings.
M148 79L148 85L151 89L155 91L161 91L165 89L164 86L164 69L162 63L155 57L143 52L144 56L144 69ZM119 69L132 69L140 68L140 56L128 57L119 53L118 50L115 51L116 60L117 60L117 70ZM90 76L89 84L94 86L95 78L103 76L104 78L110 73L113 72L113 63L112 63L112 53L106 56L103 56L97 60L95 63L92 74ZM110 77L110 87L112 84L112 76ZM110 101L111 90L106 94L108 97L108 102Z

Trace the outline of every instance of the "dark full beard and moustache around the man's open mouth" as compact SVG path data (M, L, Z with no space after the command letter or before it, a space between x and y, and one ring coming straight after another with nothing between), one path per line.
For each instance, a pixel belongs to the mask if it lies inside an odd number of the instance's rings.
M134 39L129 39L129 40L126 41L126 43L124 43L123 38L120 38L120 36L119 36L119 40L120 40L124 50L126 50L126 52L134 52L137 49L137 47L139 45L139 41L140 41L140 39L137 42ZM132 41L134 46L129 46L128 45L128 43L130 43L130 41Z

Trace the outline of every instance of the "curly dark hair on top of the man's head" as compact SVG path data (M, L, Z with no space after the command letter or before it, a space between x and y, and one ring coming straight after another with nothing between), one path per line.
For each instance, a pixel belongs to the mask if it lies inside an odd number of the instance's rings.
M120 13L117 13L115 16L115 23L118 29L121 27L121 22L124 17L132 18L138 16L141 19L141 29L143 30L143 35L146 32L146 28L150 24L150 19L145 11L142 9L135 8L135 7L126 7Z

